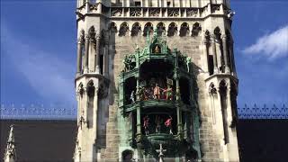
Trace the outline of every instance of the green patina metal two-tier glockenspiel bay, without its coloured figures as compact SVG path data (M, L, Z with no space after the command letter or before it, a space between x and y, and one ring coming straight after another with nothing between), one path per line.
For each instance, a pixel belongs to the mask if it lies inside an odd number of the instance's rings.
M195 78L191 69L191 58L181 54L176 48L169 49L166 39L157 33L156 30L152 39L147 34L146 47L139 49L137 46L135 52L126 55L123 60L124 69L120 74L118 87L120 147L134 148L143 156L155 157L156 148L159 144L163 144L167 149L166 155L171 157L191 154L200 157L199 110L195 87L193 87ZM159 98L155 94L157 82L153 85L154 96L145 94L146 91L153 89L152 84L147 84L153 81L153 78L149 78L148 75L163 76L157 70L154 72L153 69L145 69L150 64L151 67L159 64L168 69L163 72L166 78L158 78L160 81L166 80L166 89L162 89L166 92L166 98ZM148 134L148 130L144 132L142 127L144 115L149 115L152 120L155 116L157 119L158 115L161 118L173 115L175 132L173 134L153 131ZM170 126L171 130L172 126Z

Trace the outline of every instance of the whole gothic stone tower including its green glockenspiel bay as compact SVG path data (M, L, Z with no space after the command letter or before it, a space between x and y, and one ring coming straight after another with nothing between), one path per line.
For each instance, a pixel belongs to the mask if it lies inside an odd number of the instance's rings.
M77 0L75 161L239 161L229 0Z

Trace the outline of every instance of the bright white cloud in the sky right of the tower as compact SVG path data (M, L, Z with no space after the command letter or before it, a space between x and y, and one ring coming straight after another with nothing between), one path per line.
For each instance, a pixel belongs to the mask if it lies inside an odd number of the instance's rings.
M255 44L247 47L243 52L271 59L288 56L288 25L260 37Z

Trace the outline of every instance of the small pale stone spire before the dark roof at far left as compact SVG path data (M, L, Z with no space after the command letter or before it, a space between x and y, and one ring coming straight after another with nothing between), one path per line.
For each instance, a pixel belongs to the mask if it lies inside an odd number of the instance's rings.
M16 160L14 125L10 126L10 133L7 140L7 148L4 154L4 162L14 162Z

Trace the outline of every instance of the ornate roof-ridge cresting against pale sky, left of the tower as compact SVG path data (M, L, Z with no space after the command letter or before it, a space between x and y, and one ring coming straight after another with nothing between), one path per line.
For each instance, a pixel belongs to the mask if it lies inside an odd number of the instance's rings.
M76 120L76 106L73 105L14 105L1 104L0 119L12 120Z

